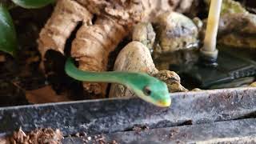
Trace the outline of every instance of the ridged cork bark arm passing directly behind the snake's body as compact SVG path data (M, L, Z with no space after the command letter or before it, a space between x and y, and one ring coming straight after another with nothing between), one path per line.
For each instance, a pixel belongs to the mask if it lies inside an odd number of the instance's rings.
M79 69L105 71L111 51L126 36L127 30L111 18L98 18L93 26L83 25L72 43L71 55L79 62ZM106 83L83 84L94 94L106 94Z

